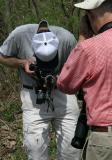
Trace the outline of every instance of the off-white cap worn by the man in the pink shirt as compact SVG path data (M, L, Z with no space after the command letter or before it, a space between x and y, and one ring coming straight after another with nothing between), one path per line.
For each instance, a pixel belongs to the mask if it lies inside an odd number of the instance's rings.
M91 10L98 8L105 1L106 0L84 0L83 2L74 4L74 6L85 10Z

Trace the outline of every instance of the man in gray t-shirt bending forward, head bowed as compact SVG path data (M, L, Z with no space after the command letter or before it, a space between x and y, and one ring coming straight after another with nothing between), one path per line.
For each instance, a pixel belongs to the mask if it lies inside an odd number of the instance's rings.
M17 27L0 47L0 63L19 69L24 146L29 160L48 160L50 122L53 122L56 133L57 159L80 159L80 151L71 146L79 115L76 96L62 93L56 86L50 90L48 97L44 90L43 96L43 89L40 94L41 89L37 87L38 74L41 72L35 73L35 69L30 68L33 64L33 67L39 66L40 70L44 68L45 72L53 71L50 78L55 81L75 45L76 39L69 31L41 21L39 25ZM43 79L46 82L46 77L48 74L43 76L40 83ZM41 95L42 101L38 101Z

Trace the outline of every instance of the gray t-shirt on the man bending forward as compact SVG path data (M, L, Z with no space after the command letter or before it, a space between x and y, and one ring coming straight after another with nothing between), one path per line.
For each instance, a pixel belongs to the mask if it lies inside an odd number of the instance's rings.
M57 74L59 74L70 51L75 47L77 41L72 33L62 27L50 26L49 28L59 39L59 63L57 67ZM37 29L38 24L26 24L17 27L9 34L8 38L0 47L0 54L20 59L33 57L34 51L31 42ZM19 69L19 73L23 84L30 84L31 86L35 85L35 81L27 75L22 68Z

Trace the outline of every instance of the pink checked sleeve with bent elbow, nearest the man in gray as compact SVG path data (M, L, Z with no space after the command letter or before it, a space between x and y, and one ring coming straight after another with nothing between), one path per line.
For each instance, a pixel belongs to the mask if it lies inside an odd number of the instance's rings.
M74 94L89 78L90 64L88 56L81 45L77 45L62 68L57 80L57 87L64 93Z

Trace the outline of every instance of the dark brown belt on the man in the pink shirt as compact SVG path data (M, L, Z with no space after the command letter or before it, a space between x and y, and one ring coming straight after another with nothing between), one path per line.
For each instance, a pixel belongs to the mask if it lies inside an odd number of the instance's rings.
M112 126L91 126L90 130L94 132L109 132L109 127L112 131Z

